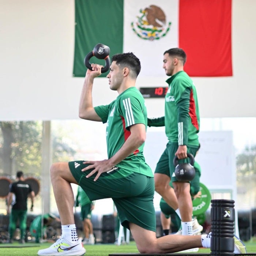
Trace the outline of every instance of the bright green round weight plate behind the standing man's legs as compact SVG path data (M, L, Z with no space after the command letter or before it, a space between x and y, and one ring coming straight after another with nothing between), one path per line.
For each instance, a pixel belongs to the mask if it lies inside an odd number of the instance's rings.
M211 193L209 189L202 183L200 183L201 196L195 198L193 203L193 215L199 215L208 209L211 203Z

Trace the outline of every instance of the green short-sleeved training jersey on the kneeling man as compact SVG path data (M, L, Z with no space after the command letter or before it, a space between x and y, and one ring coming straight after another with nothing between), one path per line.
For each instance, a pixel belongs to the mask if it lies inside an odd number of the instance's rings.
M129 127L144 124L147 127L147 109L144 98L138 89L130 87L111 102L94 108L103 123L107 123L106 140L108 158L111 158L123 146L131 132ZM143 155L144 143L131 155L116 165L136 173L154 177Z

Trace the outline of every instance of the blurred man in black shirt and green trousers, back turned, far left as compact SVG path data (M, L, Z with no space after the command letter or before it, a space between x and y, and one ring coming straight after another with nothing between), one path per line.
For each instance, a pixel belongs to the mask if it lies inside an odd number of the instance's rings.
M13 234L16 229L16 222L19 219L20 243L25 243L25 234L27 228L27 197L31 199L30 211L33 211L35 193L31 186L25 181L23 172L18 171L16 174L17 182L10 184L9 194L7 196L7 214L10 214L9 220L9 241L13 242Z

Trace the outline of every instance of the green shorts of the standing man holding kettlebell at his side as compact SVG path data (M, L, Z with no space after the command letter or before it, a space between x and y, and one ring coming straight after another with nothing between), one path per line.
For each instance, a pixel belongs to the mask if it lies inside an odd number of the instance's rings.
M165 151L161 155L157 167L155 168L155 173L166 174L171 177L172 182L176 182L177 179L173 176L175 171L175 166L173 165L173 158L175 157L175 153L178 149L178 143L168 142L166 145ZM198 150L197 147L188 147L187 146L187 153L191 153L193 156L196 155L196 151ZM180 159L178 163L189 163L190 159Z

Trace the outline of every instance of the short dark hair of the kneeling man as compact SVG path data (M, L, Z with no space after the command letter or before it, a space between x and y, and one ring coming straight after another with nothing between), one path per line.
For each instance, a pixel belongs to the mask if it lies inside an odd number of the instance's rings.
M136 74L136 77L140 73L140 60L132 52L115 54L112 56L112 61L116 61L116 64L122 68L130 68Z

